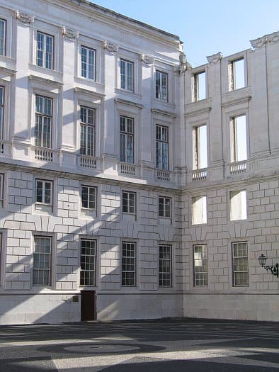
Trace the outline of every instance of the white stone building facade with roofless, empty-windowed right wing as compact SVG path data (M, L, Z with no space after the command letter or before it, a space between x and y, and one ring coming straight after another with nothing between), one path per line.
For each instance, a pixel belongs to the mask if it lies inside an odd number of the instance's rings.
M279 320L278 33L251 44L191 68L86 1L0 1L1 324Z

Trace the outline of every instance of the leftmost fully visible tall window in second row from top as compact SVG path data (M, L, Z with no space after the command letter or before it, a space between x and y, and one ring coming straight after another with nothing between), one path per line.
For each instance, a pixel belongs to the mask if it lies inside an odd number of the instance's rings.
M52 142L52 99L35 98L35 146L51 148Z

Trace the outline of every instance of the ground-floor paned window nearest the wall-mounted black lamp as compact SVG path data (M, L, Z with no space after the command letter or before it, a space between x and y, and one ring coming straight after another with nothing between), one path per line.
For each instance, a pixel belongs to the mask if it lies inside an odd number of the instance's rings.
M248 247L246 242L232 243L233 285L249 286Z

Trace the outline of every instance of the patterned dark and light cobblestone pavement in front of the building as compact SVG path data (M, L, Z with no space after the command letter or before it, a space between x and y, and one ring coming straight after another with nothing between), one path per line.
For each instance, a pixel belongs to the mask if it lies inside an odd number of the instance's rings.
M212 320L0 327L0 372L279 372L279 323Z

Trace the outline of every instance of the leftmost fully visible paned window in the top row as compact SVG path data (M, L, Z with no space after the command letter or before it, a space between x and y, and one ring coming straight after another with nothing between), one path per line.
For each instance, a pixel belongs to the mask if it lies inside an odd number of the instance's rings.
M53 69L54 38L37 31L37 66Z

